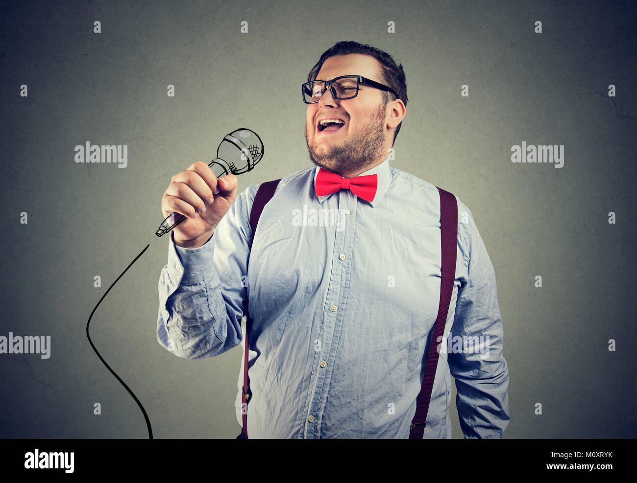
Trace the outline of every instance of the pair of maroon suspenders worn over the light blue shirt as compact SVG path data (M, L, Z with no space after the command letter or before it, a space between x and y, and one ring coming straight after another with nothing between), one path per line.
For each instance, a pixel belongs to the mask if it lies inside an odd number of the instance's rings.
M257 190L252 203L252 211L250 211L250 227L252 228L252 240L259 223L259 217L263 211L263 207L273 197L276 186L280 179L262 183ZM436 186L438 188L438 186ZM440 281L440 304L438 305L438 317L433 328L433 337L429 344L429 355L427 356L427 365L425 375L422 379L422 386L416 403L416 413L412 420L410 428L410 439L422 439L424 428L427 420L427 410L429 410L429 401L431 400L431 391L433 389L434 377L436 376L436 368L438 367L439 354L436 350L436 340L438 340L445 330L445 322L447 321L447 312L451 302L451 295L454 290L455 280L455 259L457 253L458 238L458 208L455 196L441 188L440 193L440 239L442 248L441 263L441 281ZM250 315L246 318L245 328L245 354L243 356L243 395L241 396L241 415L243 418L242 434L243 438L248 438L247 419L248 408L247 403L252 392L250 391L250 379L248 378L248 327L250 327Z

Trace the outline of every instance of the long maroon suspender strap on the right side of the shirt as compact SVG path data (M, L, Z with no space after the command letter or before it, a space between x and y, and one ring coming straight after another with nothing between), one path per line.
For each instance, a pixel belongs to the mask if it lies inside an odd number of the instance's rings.
M449 311L451 295L454 291L455 258L458 244L458 206L452 193L440 188L438 188L438 192L440 192L440 241L442 248L440 305L438 305L438 317L436 318L436 325L434 325L433 337L431 337L431 343L429 344L429 356L427 356L425 375L422 379L422 386L416 403L416 413L410 428L410 439L422 439L424 435L427 410L429 410L429 400L431 400L431 389L436 377L436 367L438 367L439 354L436 350L438 346L436 341L445 331L447 312Z

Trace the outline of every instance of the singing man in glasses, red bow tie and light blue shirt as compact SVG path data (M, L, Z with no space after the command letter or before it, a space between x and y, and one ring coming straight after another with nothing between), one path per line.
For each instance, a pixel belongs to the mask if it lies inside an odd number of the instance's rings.
M249 313L248 437L407 438L438 312L441 246L438 190L389 166L406 114L403 68L340 42L303 96L316 166L280 181L254 237L258 186L236 197L236 177L217 181L202 162L173 177L162 211L189 218L171 232L157 339L183 358L216 356L243 341ZM326 193L322 179L334 173L343 186L355 176L376 186ZM444 332L454 344L439 346L424 438L451 437L450 374L465 437L499 438L509 414L496 280L459 200L458 218ZM486 346L467 350L478 338ZM242 382L243 362L240 425Z

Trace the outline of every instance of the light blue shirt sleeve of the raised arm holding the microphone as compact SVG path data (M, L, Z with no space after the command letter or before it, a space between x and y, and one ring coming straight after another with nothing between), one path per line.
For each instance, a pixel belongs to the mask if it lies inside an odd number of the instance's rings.
M212 237L198 248L175 244L159 277L157 342L179 357L199 359L240 344L247 312L247 191L234 200Z

